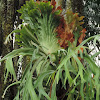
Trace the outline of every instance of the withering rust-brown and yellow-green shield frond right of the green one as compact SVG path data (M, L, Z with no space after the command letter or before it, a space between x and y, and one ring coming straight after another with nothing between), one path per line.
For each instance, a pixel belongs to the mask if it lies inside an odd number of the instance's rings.
M62 15L60 24L56 29L57 37L59 38L58 43L61 47L67 48L68 43L73 43L75 36L78 36L78 44L80 44L84 37L86 29L81 26L84 16L79 17L78 13L67 11L66 17ZM79 34L79 35L75 35Z

